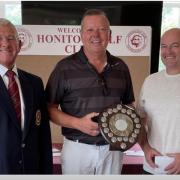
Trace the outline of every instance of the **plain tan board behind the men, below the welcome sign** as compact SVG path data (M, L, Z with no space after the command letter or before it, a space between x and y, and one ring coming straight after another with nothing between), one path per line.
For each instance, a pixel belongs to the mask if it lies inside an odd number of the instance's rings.
M28 72L40 76L46 86L48 77L53 70L56 63L61 60L63 56L18 56L17 66ZM142 83L150 73L149 57L120 57L128 65L133 81L135 98L137 100ZM52 141L54 143L62 142L61 128L51 123Z

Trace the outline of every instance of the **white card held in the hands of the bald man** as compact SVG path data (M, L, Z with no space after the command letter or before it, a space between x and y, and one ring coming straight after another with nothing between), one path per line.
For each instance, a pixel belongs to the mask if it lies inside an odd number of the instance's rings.
M155 164L158 165L158 168L155 168L156 174L166 174L164 170L171 162L173 162L174 158L169 156L155 156Z

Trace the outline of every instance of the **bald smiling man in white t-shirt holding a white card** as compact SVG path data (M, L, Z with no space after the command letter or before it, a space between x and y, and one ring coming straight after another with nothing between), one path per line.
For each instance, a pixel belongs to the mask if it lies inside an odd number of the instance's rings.
M140 140L143 168L150 174L180 174L179 28L163 34L161 58L166 69L145 79L137 105L145 125Z

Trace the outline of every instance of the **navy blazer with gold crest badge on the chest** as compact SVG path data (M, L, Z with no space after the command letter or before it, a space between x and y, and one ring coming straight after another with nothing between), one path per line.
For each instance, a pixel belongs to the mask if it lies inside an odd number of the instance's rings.
M25 105L21 130L0 76L0 174L51 174L52 144L42 80L18 69Z

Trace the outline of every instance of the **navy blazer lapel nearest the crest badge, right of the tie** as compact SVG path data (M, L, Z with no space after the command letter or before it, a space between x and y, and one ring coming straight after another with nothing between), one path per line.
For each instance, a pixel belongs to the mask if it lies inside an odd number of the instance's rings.
M30 86L30 82L21 70L18 70L19 81L21 84L23 99L24 99L24 130L23 130L23 140L28 134L29 128L31 126L31 119L33 115L33 89Z

